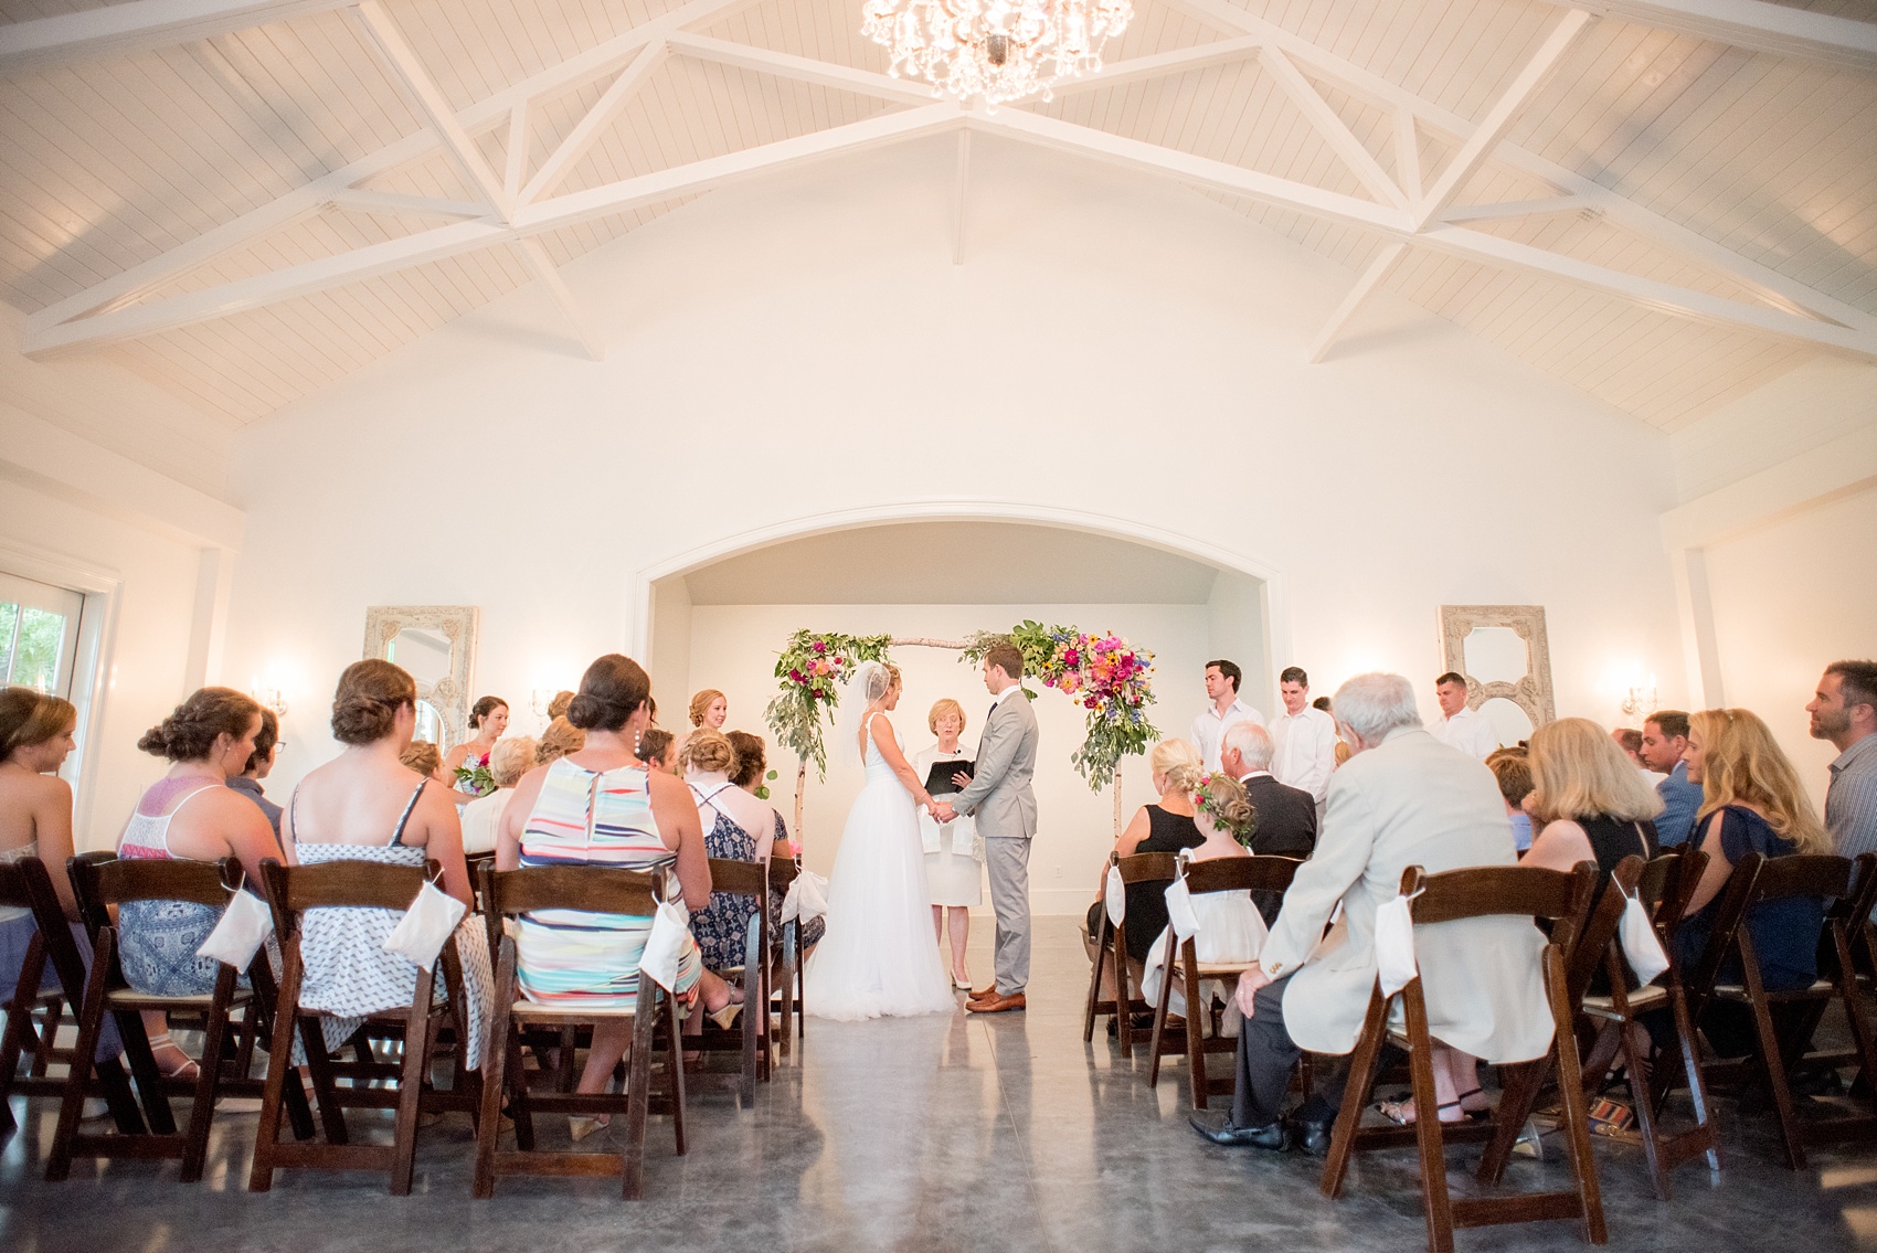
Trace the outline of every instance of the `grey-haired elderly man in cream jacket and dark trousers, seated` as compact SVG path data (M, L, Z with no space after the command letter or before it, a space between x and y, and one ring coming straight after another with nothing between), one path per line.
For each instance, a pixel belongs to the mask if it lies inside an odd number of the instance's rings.
M1355 1049L1376 987L1376 910L1398 895L1412 865L1442 872L1517 863L1492 771L1423 730L1408 679L1357 675L1336 692L1335 711L1355 756L1331 778L1316 853L1284 895L1258 964L1239 979L1244 1026L1231 1114L1192 1116L1214 1144L1286 1150L1295 1131L1305 1152L1327 1154L1348 1075L1320 1071L1289 1120L1280 1105L1305 1050ZM1325 936L1338 904L1342 917ZM1543 945L1518 917L1417 928L1430 1035L1496 1064L1543 1054L1552 1034ZM1458 1116L1460 1094L1445 1071L1436 1090L1438 1116Z

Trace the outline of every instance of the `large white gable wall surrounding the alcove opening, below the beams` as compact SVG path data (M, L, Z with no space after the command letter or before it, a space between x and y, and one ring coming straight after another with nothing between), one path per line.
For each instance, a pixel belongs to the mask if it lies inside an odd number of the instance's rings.
M1273 666L1318 690L1430 683L1436 608L1511 602L1549 610L1560 713L1614 718L1635 668L1684 700L1665 435L1412 308L1308 366L1351 274L1072 158L974 144L952 266L954 165L910 144L723 189L569 266L604 362L529 289L246 428L227 670L289 690L282 784L330 752L368 604L482 606L475 685L526 700L640 647L642 570L957 499L1243 557Z

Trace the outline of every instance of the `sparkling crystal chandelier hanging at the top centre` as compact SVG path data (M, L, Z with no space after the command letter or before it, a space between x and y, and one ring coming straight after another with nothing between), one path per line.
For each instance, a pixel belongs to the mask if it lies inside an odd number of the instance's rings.
M860 34L935 94L1023 99L1102 68L1102 47L1134 19L1128 0L867 0Z

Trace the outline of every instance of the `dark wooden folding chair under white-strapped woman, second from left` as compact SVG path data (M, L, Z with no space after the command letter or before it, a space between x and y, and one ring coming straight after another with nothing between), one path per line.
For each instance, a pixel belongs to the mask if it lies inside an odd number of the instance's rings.
M73 1157L178 1157L182 1182L191 1184L203 1176L216 1099L231 1094L255 1095L261 1088L248 1079L248 1069L253 1062L253 1039L259 1030L263 998L268 1005L272 1000L272 972L267 966L267 951L259 949L250 962L250 987L246 989L237 985L240 972L223 962L216 974L214 989L206 994L154 996L137 992L124 979L118 960L120 930L109 910L131 900L188 900L212 910L227 908L238 891L235 883L240 882L240 863L233 857L223 857L218 863L73 857L69 874L79 912L92 934L92 970L84 981L79 1041L71 1058L71 1073L77 1082L66 1086L45 1178L66 1178L71 1172ZM150 1037L143 1030L141 1013L146 1009L163 1011L169 1017L201 1019L203 1056L197 1062L199 1073L193 1080L165 1079L158 1071L150 1052ZM240 1034L242 1043L229 1050L227 1045L233 1043L231 1035L235 1034L235 1024L231 1024L235 1009L240 1009L248 1020ZM107 1013L116 1019L124 1052L131 1060L131 1073L143 1092L148 1122L148 1131L143 1133L79 1131L79 1120L84 1112L83 1084L92 1069L92 1056ZM225 1056L227 1052L233 1056ZM191 1097L190 1120L180 1133L169 1109L171 1094ZM293 1125L297 1133L312 1135L312 1112L306 1107L304 1092L295 1109Z

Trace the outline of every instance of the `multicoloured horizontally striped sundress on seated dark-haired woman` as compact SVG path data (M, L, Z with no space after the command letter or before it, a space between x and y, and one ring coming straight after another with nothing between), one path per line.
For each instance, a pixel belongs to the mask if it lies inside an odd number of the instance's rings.
M676 861L659 838L642 765L595 773L559 758L522 827L524 867L619 867L649 870ZM542 1005L627 1009L638 1000L638 959L649 917L537 910L516 919L516 983ZM685 996L704 972L696 942L678 966Z

